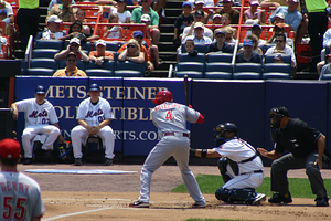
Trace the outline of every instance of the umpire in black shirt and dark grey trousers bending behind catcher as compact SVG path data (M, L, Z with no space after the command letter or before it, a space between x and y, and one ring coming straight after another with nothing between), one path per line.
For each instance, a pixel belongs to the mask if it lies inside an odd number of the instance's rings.
M269 112L270 127L276 129L275 149L257 150L269 159L271 165L271 191L274 196L270 203L292 202L287 180L289 169L306 168L311 190L317 194L317 207L329 207L329 197L320 173L325 146L325 136L298 118L291 119L286 107L274 107ZM282 156L285 149L289 154Z

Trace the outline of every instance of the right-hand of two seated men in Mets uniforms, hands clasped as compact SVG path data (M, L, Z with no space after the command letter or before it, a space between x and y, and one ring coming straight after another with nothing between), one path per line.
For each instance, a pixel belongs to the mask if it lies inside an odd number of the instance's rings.
M81 102L78 107L77 120L78 126L72 130L72 143L76 166L81 166L82 161L82 143L86 144L89 135L97 135L103 139L105 146L104 165L113 165L114 158L114 131L109 126L114 119L110 104L100 96L100 88L97 84L89 86L88 95L90 97Z

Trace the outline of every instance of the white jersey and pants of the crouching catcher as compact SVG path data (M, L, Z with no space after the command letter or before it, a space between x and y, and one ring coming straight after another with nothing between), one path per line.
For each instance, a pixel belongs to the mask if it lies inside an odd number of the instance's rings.
M220 147L213 148L222 157L226 157L238 165L238 175L236 176L227 164L226 175L232 179L227 181L222 188L224 189L244 189L254 188L257 189L264 181L264 166L259 156L256 156L253 160L242 162L256 155L256 150L247 141L233 138Z

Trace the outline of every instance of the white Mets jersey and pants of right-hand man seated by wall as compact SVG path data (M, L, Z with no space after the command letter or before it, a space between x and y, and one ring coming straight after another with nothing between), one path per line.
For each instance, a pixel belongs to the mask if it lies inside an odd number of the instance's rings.
M99 97L96 105L93 105L90 98L86 98L81 102L78 107L77 119L85 120L89 126L98 126L99 123L105 119L114 119L114 114L111 112L110 104L107 99ZM114 131L110 126L103 127L97 134L103 139L103 145L105 146L105 157L114 158ZM72 143L74 149L74 157L82 158L82 143L86 144L89 136L88 130L82 125L77 125L72 130Z

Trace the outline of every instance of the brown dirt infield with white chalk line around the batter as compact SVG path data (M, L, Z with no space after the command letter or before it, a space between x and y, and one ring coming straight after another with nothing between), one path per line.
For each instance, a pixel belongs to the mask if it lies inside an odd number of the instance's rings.
M149 209L129 208L128 204L139 197L141 165L115 165L105 167L87 165L31 165L19 166L26 169L110 169L137 171L129 175L62 175L30 173L41 186L46 213L42 220L61 221L182 221L190 218L201 219L243 219L243 220L331 220L331 209L317 208L312 199L293 199L287 206L225 204L213 194L204 194L207 207L192 209L193 200L188 193L169 193L182 183L177 166L162 166L152 177L151 207ZM212 166L191 166L193 173L218 175ZM265 168L269 176L269 168ZM325 179L331 179L331 170L322 170ZM289 177L306 178L305 170L290 171ZM327 187L329 192L331 191Z

